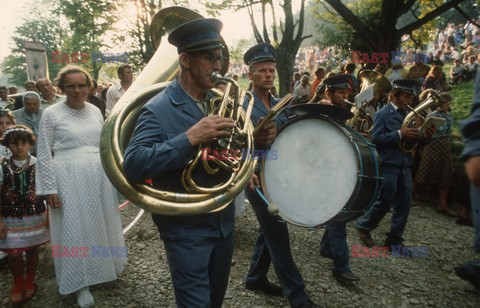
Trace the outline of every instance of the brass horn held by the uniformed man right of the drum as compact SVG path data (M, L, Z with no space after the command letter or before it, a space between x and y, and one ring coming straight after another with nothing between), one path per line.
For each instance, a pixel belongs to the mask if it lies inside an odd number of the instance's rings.
M415 109L407 105L407 108L410 109L410 113L407 114L402 123L402 127L417 128L420 133L420 138L422 138L425 133L425 114L429 113L429 110L432 107L439 107L443 103L440 95L432 89L424 90L420 94L420 99L422 98L425 99L423 99ZM418 141L402 139L400 140L399 146L402 152L411 153L417 144Z

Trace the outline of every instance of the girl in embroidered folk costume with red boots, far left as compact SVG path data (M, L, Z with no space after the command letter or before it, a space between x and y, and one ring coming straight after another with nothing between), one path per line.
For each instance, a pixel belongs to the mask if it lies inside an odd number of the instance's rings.
M36 158L30 155L36 138L30 128L15 125L3 135L2 145L11 151L0 168L0 250L8 253L13 275L10 301L20 305L33 298L39 246L48 242L46 206L35 194ZM23 252L27 255L23 275Z

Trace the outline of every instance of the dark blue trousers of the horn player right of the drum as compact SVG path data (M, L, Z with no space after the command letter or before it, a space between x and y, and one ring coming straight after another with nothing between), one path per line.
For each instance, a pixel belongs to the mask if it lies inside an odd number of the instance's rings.
M383 182L377 201L357 220L357 229L366 233L375 229L382 218L393 208L390 232L387 239L392 244L403 243L403 231L407 224L412 200L412 173L383 171Z

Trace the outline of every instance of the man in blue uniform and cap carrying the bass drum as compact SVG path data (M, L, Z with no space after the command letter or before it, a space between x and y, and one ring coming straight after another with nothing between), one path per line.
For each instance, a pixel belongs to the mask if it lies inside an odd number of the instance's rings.
M270 90L275 80L275 49L272 45L262 43L251 47L244 55L244 62L249 66L248 77L252 81L252 93L255 99L251 120L257 125L260 118L265 117L270 108L278 101ZM284 110L275 122L263 128L263 135L254 135L255 149L268 150L276 136L276 126L286 122L288 111ZM268 137L268 138L266 138ZM256 172L258 174L258 170ZM288 228L267 210L265 204L254 191L258 186L258 178L254 175L246 189L246 195L253 207L260 224L250 269L245 279L249 290L259 290L270 295L283 293L292 307L318 307L305 293L305 284L298 271L290 251ZM273 285L267 279L267 272L273 263L282 288Z

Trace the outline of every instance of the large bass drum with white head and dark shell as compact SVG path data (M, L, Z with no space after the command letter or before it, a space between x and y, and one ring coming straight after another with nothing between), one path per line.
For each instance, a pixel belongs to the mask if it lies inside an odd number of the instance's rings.
M264 158L260 183L286 221L317 227L360 217L380 188L375 146L350 127L321 115L295 117Z

